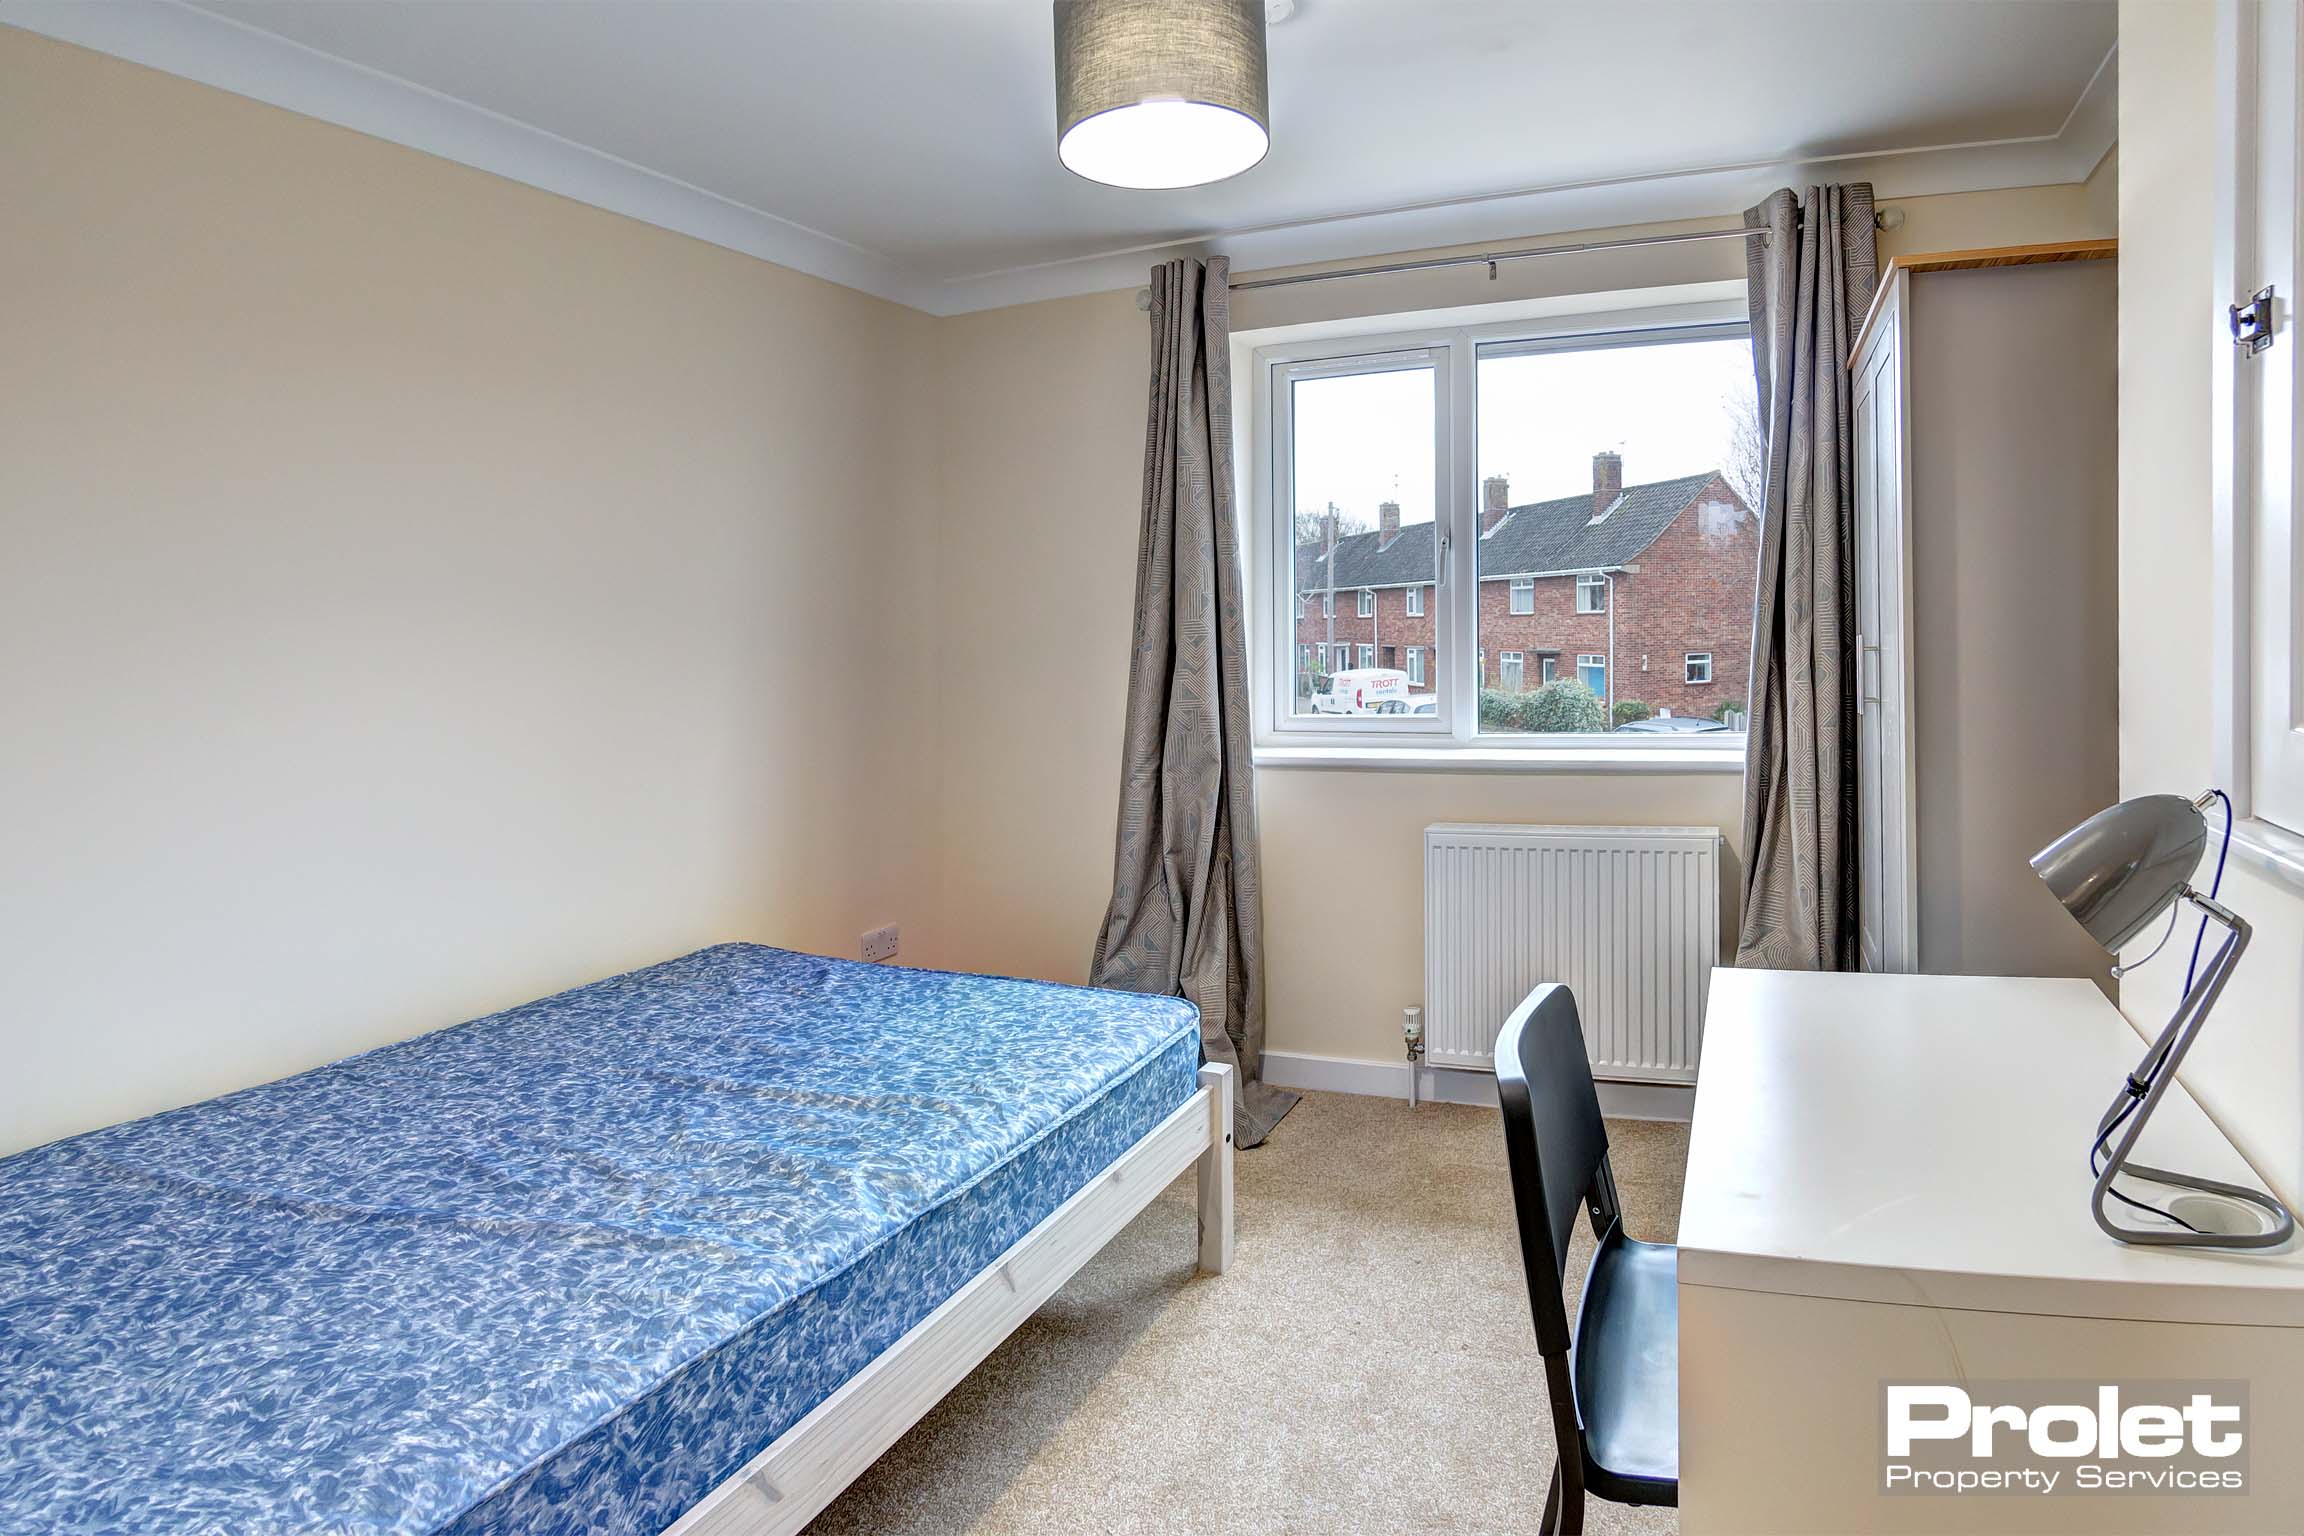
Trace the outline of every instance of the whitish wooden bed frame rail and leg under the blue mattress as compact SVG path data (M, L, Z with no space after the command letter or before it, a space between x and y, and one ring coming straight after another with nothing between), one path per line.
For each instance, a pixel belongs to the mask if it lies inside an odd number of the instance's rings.
M1180 1172L1200 1165L1200 1269L1233 1262L1233 1069L1200 1087L664 1536L795 1536L1039 1310Z

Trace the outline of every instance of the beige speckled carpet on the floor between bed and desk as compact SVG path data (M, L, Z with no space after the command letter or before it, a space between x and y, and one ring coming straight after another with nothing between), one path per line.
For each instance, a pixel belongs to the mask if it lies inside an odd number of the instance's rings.
M1608 1138L1627 1227L1670 1239L1687 1126ZM1226 1276L1193 1273L1187 1177L811 1536L1534 1531L1553 1442L1495 1112L1306 1094L1237 1200Z

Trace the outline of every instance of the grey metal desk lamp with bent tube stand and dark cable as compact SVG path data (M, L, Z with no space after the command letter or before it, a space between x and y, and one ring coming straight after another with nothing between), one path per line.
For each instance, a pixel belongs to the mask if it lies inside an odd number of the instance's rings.
M2288 1207L2260 1191L2129 1161L2129 1151L2136 1149L2136 1138L2143 1135L2145 1124L2152 1119L2152 1110L2159 1108L2168 1085L2175 1082L2175 1069L2184 1062L2184 1052L2191 1050L2193 1039L2198 1039L2200 1025L2207 1022L2207 1011L2216 1006L2216 995L2223 993L2223 983L2233 976L2233 967L2239 965L2239 956L2249 946L2246 919L2216 903L2214 896L2203 896L2191 887L2191 873L2198 868L2200 854L2207 850L2207 820L2203 818L2203 811L2216 797L2219 792L2210 790L2200 799L2184 799L2182 794L2143 794L2138 799L2124 799L2108 811L2094 813L2055 843L2048 843L2048 847L2032 854L2032 870L2048 884L2055 898L2064 903L2064 910L2071 912L2074 921L2087 930L2087 937L2115 956L2122 944L2150 928L2161 912L2170 914L2168 921L2173 928L2175 914L2170 907L2180 900L2200 910L2203 933L2210 921L2223 928L2223 942L2210 958L2207 969L2186 979L2184 997L2177 1002L2168 1027L2161 1029L2157 1041L2152 1041L2152 1048L2145 1050L2145 1059L2134 1073L2129 1073L2129 1080L2120 1087L2120 1096L2113 1098L2113 1108L2108 1108L2104 1119L2097 1121L2097 1140L2087 1154L2087 1168L2097 1174L2097 1193L2090 1204L2094 1209L2097 1225L2122 1244L2154 1244L2163 1248L2276 1248L2288 1241L2297 1225L2295 1216L2288 1214ZM2226 801L2226 820L2230 822L2230 801ZM2226 836L2230 836L2230 827L2226 827ZM2223 866L2219 861L2219 875L2221 868ZM2159 951L2154 949L2154 953ZM2196 965L2200 951L2196 944ZM2117 965L2113 967L2113 974L2120 974ZM2110 1158L2104 1163L2104 1170L2097 1172L2097 1158L2104 1154L2104 1145L2115 1131L2122 1128L2122 1124L2127 1124L2127 1133L2120 1135L2120 1142L2110 1149ZM2177 1188L2200 1191L2205 1195L2221 1195L2223 1200L2239 1200L2269 1214L2272 1225L2260 1232L2203 1230L2193 1223L2210 1216L2214 1209L2210 1202L2173 1202L2191 1209L2191 1218L2180 1211L2163 1211L2161 1207L2131 1200L2129 1195L2115 1191L2113 1179L2120 1174L2136 1174L2138 1179L2150 1179L2154 1184L2170 1184ZM2177 1230L2131 1227L2113 1221L2104 1204L2106 1197L2163 1216L2175 1223Z

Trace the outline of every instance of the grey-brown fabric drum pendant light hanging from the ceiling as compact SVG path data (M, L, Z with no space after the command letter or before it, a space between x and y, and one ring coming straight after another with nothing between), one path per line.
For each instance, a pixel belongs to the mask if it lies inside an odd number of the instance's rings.
M1265 0L1055 0L1055 154L1108 187L1200 187L1272 145Z

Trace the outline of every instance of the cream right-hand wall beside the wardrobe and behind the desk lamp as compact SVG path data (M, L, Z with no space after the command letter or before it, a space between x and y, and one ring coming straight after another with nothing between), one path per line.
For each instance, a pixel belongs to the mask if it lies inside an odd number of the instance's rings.
M2212 781L2207 410L2221 302L2210 279L2212 28L2207 5L2120 5L2122 794L2198 794ZM2256 923L2256 942L2184 1082L2258 1172L2297 1200L2304 894L2235 859L2223 900ZM2122 981L2122 1006L2138 1029L2159 1032L2182 988L2184 960L2163 956Z

